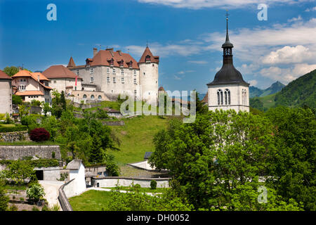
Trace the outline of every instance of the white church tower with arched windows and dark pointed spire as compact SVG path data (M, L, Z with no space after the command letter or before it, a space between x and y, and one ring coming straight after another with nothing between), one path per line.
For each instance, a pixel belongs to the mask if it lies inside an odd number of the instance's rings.
M208 86L209 110L245 110L249 112L249 84L236 70L232 62L232 48L228 37L228 14L226 15L226 40L223 48L223 66Z

